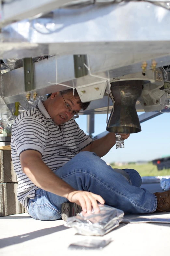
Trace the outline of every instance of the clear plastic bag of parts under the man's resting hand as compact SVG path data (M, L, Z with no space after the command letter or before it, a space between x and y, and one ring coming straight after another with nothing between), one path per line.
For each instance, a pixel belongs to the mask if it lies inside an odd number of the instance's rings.
M124 212L111 206L99 204L100 212L81 212L77 216L69 217L65 227L74 227L80 235L103 236L119 226Z

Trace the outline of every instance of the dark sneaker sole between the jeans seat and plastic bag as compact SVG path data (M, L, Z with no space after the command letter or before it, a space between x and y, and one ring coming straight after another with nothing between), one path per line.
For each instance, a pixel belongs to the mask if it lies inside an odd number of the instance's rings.
M76 216L81 211L82 208L78 204L70 202L63 203L61 207L62 219L67 221L68 217Z

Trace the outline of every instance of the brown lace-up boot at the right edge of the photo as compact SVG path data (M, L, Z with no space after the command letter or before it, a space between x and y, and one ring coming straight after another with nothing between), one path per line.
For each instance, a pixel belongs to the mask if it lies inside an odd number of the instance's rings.
M157 198L156 212L170 212L170 190L153 194Z

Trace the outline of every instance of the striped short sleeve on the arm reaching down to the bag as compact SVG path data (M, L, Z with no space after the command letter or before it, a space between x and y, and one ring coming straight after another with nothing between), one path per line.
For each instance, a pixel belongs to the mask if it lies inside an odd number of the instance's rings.
M11 143L17 154L25 150L36 150L43 154L46 147L46 129L41 121L32 116L16 120L12 126Z

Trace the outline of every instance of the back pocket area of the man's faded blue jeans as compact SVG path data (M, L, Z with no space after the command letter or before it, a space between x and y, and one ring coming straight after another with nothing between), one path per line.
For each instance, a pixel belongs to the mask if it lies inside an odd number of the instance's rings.
M38 205L35 202L31 201L29 205L29 215L37 220L61 219L60 212L51 207L49 203Z

